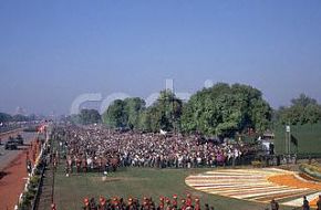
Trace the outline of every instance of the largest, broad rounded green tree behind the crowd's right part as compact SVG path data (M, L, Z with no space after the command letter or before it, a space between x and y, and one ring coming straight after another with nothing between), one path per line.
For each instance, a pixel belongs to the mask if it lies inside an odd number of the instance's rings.
M248 127L259 132L269 126L271 108L260 91L218 83L194 94L184 106L182 129L209 136L234 136Z

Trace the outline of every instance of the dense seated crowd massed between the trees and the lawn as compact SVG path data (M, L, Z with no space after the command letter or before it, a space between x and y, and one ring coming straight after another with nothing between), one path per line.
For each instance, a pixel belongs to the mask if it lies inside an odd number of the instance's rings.
M103 127L65 127L55 134L65 150L66 172L122 167L195 168L232 164L252 154L242 143L216 143L199 136L143 134Z

